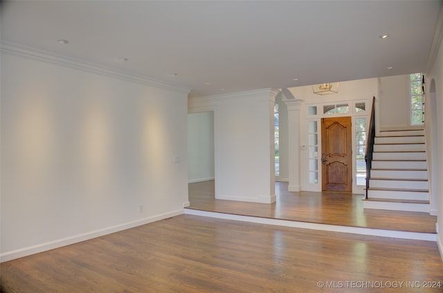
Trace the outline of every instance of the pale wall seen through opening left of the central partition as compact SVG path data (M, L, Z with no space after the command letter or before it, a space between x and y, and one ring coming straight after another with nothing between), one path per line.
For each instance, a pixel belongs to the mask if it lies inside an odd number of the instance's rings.
M188 182L214 179L214 113L188 114Z

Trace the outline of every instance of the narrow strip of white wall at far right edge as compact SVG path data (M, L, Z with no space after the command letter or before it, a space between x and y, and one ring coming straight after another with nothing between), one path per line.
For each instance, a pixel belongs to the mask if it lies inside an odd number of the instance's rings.
M432 168L437 168L435 172L437 181L437 189L435 191L437 197L437 244L440 249L440 254L443 257L443 46L440 43L440 50L438 51L437 58L431 72L427 75L426 81L431 84L431 80L435 82L435 100L437 110L437 131L435 140L437 140L437 155L433 158ZM428 86L428 84L426 84ZM426 88L428 91L429 88ZM428 121L428 117L426 117Z

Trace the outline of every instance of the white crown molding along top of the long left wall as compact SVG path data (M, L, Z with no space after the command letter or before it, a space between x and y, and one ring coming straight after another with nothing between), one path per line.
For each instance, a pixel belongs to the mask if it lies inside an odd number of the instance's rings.
M176 86L174 84L168 84L158 80L147 79L145 77L132 75L129 73L119 72L115 69L106 68L105 66L97 66L96 64L88 64L86 62L71 59L66 56L55 55L44 50L37 48L30 48L18 44L13 44L7 41L1 42L0 48L1 54L11 55L15 57L21 57L24 59L30 59L46 64L52 64L57 66L63 66L75 70L84 71L87 73L94 73L106 77L114 77L117 79L125 80L127 82L135 82L138 84L144 84L146 86L152 86L155 88L162 88L169 91L175 91L188 95L191 91L190 88Z

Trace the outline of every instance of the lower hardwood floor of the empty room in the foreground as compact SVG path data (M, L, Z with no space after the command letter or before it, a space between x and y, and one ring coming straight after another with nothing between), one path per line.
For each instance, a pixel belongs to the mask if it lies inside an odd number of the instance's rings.
M181 215L1 263L1 292L442 292L442 276L430 241Z

